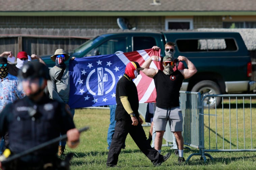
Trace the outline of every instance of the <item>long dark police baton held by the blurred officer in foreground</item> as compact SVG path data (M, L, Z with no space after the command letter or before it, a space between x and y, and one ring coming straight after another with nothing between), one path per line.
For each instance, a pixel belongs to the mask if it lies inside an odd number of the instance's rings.
M86 127L83 127L83 128L81 128L81 129L79 129L78 131L79 131L79 133L81 133L81 132L87 131L88 129L89 129L89 127L86 126ZM22 152L22 153L19 153L19 154L15 154L15 155L13 155L13 156L10 156L10 157L6 158L4 161L2 161L2 165L3 165L3 164L6 164L6 163L8 163L8 162L10 162L10 161L13 161L13 160L15 160L15 159L17 159L17 158L20 158L20 157L22 157L22 156L24 156L24 155L27 155L27 154L30 154L30 153L32 153L32 152L34 152L34 151L37 151L37 150L39 150L39 149L42 149L42 148L44 148L44 147L46 147L46 146L48 146L48 145L57 143L57 142L59 142L60 140L64 140L64 139L67 139L67 135L66 135L66 134L61 135L60 137L54 138L54 139L52 139L52 140L49 140L49 141L47 141L47 142L45 142L45 143L39 144L39 145L37 145L37 146L35 146L35 147L32 147L32 148L30 148L30 149L28 149L28 150L26 150L26 151L24 151L24 152Z

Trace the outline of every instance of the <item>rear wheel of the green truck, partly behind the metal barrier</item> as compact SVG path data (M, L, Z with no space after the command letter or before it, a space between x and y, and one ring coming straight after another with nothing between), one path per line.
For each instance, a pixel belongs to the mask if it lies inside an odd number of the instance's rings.
M210 80L203 80L198 82L191 91L196 91L201 93L201 97L208 95L208 94L221 94L220 87L217 83ZM205 108L215 108L218 107L221 103L222 98L221 97L208 97L204 99L204 107Z

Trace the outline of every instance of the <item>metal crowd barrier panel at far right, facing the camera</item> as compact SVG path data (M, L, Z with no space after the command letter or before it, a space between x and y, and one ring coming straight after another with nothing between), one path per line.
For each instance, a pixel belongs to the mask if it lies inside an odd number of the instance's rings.
M202 110L202 131L205 152L248 152L256 151L256 94L205 95L221 98L221 105L205 105Z

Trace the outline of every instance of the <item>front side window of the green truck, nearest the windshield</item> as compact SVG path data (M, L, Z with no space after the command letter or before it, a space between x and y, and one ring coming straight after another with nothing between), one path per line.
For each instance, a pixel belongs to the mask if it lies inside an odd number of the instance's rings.
M96 48L93 48L86 56L114 54L116 51L126 52L126 37L107 40Z

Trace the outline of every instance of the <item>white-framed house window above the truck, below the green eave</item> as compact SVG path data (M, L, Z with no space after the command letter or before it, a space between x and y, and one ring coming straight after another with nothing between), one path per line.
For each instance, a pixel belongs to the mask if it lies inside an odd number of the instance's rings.
M166 19L166 30L193 30L193 19Z

